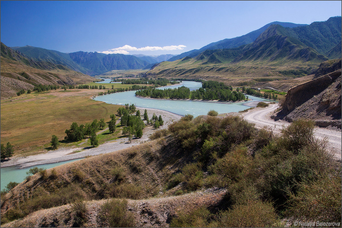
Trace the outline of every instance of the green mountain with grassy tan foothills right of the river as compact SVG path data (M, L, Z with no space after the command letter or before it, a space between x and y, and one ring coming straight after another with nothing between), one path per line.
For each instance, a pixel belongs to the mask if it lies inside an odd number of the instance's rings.
M172 62L171 58L155 65L146 76L231 80L233 84L240 79L272 81L307 75L332 58L341 58L340 16L292 28L272 24L249 44L208 49Z

